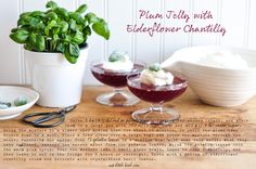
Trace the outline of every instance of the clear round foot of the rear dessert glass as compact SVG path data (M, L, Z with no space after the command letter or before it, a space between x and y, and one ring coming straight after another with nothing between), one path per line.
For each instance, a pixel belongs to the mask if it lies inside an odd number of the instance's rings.
M135 95L126 92L104 93L97 98L97 102L107 106L131 106L140 100Z

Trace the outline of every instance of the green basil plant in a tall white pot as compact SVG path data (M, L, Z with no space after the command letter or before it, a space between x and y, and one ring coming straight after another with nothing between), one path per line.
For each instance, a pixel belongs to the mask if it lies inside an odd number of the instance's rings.
M93 30L108 40L110 29L103 18L86 13L87 4L74 12L53 1L46 6L46 12L22 13L10 38L24 44L33 88L40 93L38 104L75 105L81 98L87 39Z

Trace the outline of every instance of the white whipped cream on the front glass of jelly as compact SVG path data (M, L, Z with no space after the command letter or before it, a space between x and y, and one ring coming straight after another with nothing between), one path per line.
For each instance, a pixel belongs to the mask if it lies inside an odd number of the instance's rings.
M145 84L166 86L174 82L174 76L170 73L164 72L163 69L158 72L144 69L140 74L140 81Z

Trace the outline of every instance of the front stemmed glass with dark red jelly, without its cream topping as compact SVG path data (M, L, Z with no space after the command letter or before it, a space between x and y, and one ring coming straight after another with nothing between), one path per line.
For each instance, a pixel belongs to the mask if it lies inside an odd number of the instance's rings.
M163 107L163 103L180 96L188 87L185 80L175 77L172 84L156 87L141 83L140 75L133 74L127 77L127 84L136 96L151 103L149 108L132 113L135 120L149 125L169 125L179 119L179 113L174 108Z

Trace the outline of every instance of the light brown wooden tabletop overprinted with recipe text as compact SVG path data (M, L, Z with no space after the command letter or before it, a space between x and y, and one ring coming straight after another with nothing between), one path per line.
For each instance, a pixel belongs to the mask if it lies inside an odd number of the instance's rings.
M188 90L167 107L181 118L170 126L141 125L131 113L149 106L95 103L110 90L86 87L65 123L36 129L16 119L0 121L0 169L253 169L256 166L256 98L242 106L203 104ZM24 114L51 109L34 106Z

